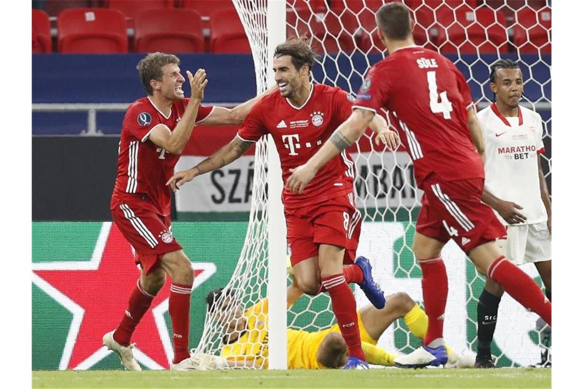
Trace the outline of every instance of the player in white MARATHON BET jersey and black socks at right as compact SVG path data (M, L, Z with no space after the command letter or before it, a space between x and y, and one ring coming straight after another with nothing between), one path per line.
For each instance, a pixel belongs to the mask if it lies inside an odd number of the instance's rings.
M515 61L496 61L490 81L495 103L477 114L485 143L482 201L495 209L507 228L507 237L498 240L505 257L517 265L533 262L551 300L551 203L541 170L540 155L545 150L541 116L519 106L523 74ZM487 278L477 304L475 367L494 367L491 342L503 292ZM551 366L547 349L542 359L543 365Z

